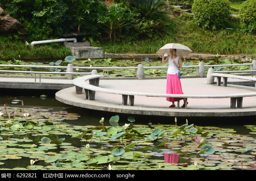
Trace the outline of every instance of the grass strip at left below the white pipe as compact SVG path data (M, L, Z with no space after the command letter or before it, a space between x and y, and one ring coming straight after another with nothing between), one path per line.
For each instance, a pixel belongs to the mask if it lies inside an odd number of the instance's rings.
M69 48L63 47L60 43L35 45L33 48L25 43L0 42L0 60L19 59L63 59L70 55Z

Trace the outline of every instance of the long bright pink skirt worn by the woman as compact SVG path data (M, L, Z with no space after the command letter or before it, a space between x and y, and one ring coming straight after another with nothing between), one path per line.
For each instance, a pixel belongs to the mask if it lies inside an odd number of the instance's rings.
M167 73L166 94L183 94L180 79L176 74L170 75ZM182 100L183 98L180 98ZM166 101L176 102L178 98L166 97Z

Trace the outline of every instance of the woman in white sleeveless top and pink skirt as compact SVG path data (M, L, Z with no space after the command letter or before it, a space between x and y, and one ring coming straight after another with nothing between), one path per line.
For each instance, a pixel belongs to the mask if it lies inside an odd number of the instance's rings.
M167 56L166 59L164 54L162 54L162 63L166 64L168 62L166 94L183 94L181 82L178 77L179 68L182 68L182 61L181 58L176 55L176 51L176 49L170 49L171 55ZM180 98L180 100L181 99L184 101L181 108L185 108L185 98ZM178 98L166 97L166 101L172 102L172 105L169 107L174 108L174 102L178 101Z

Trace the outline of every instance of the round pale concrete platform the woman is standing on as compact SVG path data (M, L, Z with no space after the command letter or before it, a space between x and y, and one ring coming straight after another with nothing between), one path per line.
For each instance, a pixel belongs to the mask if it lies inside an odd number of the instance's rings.
M239 82L229 79L229 82ZM216 78L215 78L216 82ZM254 87L227 84L207 84L206 78L181 79L184 94L232 94L255 92ZM104 80L99 86L115 90L138 91L145 93L165 93L166 79L147 80ZM122 96L116 94L96 93L95 100L86 100L84 94L76 94L75 87L65 88L56 93L56 99L82 108L108 112L143 114L157 116L253 116L256 115L256 97L245 97L243 108L230 108L230 98L188 99L188 109L169 108L170 102L165 98L135 96L134 106L123 106ZM181 101L182 105L183 101ZM177 105L177 102L176 102Z

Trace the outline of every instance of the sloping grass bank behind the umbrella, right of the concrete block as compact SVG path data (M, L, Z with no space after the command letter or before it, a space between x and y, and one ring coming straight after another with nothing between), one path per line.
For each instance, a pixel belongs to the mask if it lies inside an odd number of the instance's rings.
M205 54L253 54L256 56L256 35L244 34L239 30L203 30L192 20L176 18L177 33L132 42L95 44L107 53L151 54L167 43L180 43L194 53ZM229 28L239 29L239 22L230 22Z

